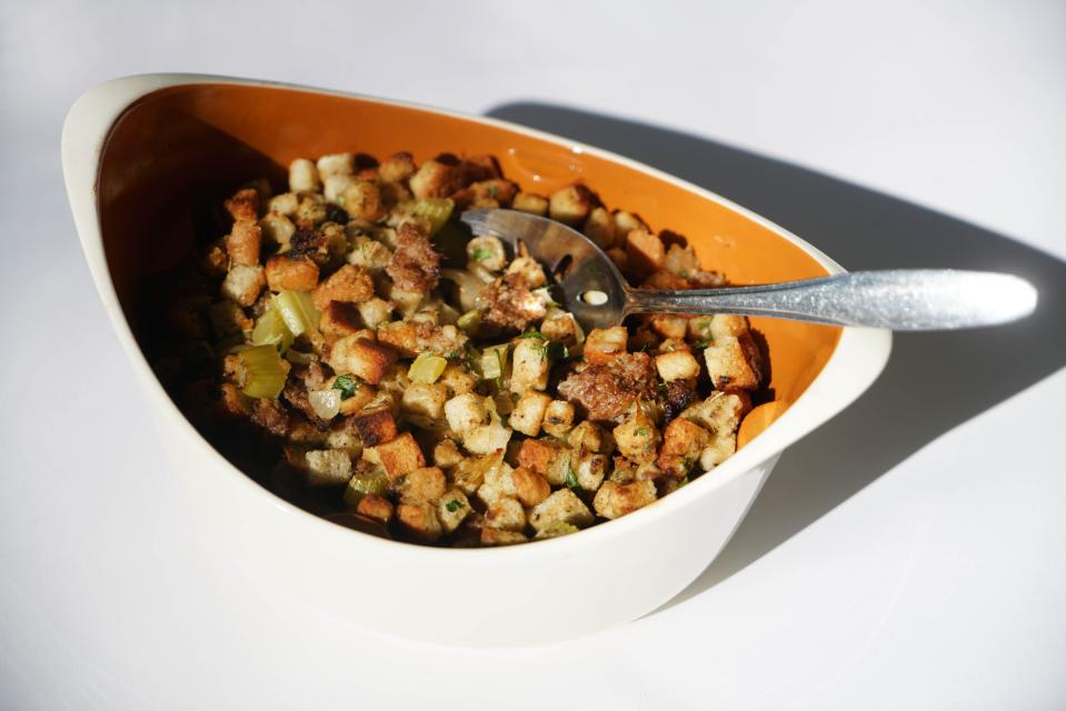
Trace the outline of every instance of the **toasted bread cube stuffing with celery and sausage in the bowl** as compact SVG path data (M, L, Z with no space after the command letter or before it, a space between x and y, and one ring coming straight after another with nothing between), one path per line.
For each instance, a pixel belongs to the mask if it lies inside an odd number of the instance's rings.
M201 431L237 435L235 461L342 525L449 547L574 533L720 464L753 397L773 395L746 318L654 313L586 336L548 264L460 224L471 209L550 216L632 288L726 283L683 236L584 184L542 197L491 156L337 152L292 161L283 192L252 180L220 203L159 279L153 368ZM277 319L290 291L308 296L299 323Z

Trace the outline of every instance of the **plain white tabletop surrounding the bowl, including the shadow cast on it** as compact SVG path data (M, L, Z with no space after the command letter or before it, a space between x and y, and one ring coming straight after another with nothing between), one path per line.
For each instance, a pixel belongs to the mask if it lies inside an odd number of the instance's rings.
M1064 40L1060 1L4 0L0 705L1066 707ZM649 617L504 651L370 634L193 542L94 296L60 127L81 91L148 71L511 104L845 267L1013 269L1044 307L897 337L881 381Z

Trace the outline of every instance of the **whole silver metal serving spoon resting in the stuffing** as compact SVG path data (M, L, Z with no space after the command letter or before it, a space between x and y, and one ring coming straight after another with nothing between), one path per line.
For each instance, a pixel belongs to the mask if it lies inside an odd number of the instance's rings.
M585 329L618 326L630 313L738 313L935 331L1015 321L1037 301L1036 289L1019 277L955 269L858 271L721 289L632 289L595 242L561 222L516 210L471 210L460 219L475 234L511 247L522 242L554 276L560 306Z

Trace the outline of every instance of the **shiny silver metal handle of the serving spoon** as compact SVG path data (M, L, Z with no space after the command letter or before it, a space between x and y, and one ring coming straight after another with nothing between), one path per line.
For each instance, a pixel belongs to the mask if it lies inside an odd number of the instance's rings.
M952 269L859 271L757 287L630 289L628 313L740 313L894 331L1005 323L1036 308L1036 289L1013 274Z

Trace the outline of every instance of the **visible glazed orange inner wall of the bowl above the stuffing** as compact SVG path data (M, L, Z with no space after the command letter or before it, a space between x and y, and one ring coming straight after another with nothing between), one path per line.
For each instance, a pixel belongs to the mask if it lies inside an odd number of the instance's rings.
M295 158L399 150L421 161L441 152L490 153L522 189L550 193L576 180L610 208L639 214L656 231L688 238L705 268L737 284L825 276L788 240L749 218L639 169L565 142L369 99L277 87L190 84L130 106L114 122L100 163L97 199L103 247L127 317L139 287L192 246L191 206L237 184L269 178L276 188ZM810 384L840 329L753 319L770 359L774 403L746 420L741 443L765 429Z

